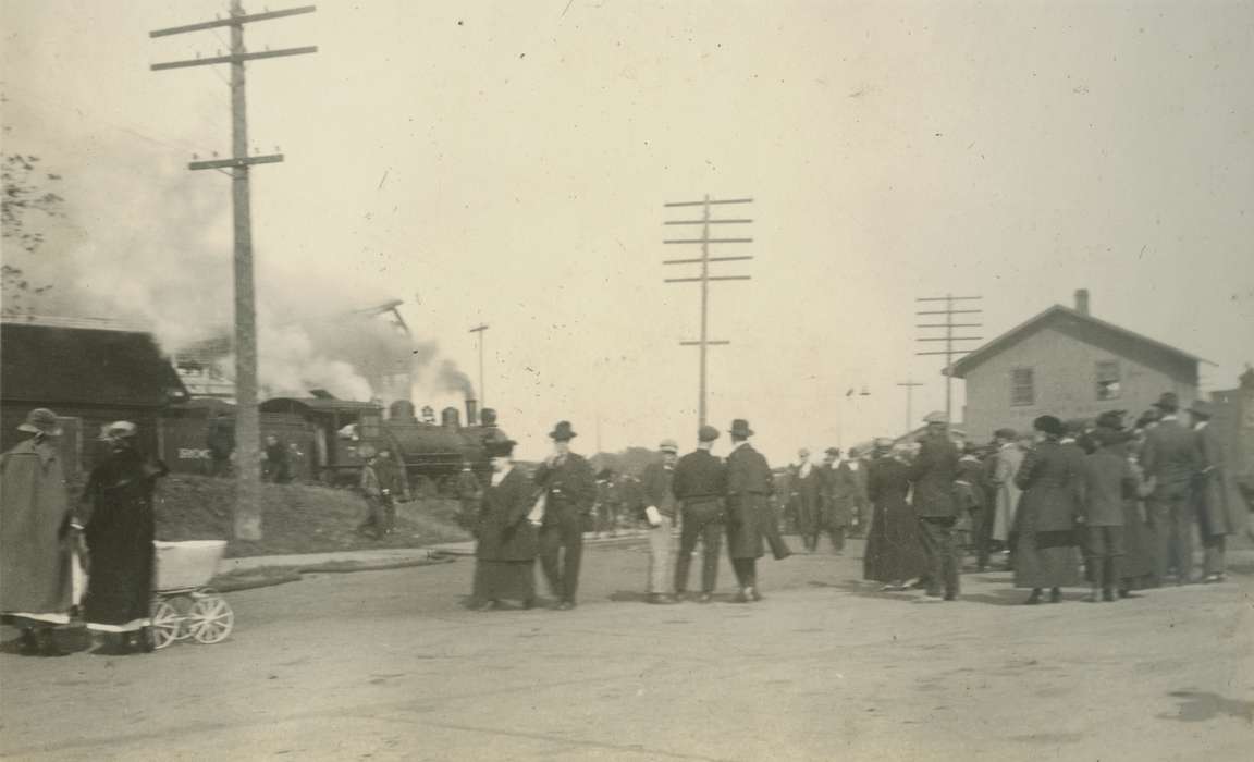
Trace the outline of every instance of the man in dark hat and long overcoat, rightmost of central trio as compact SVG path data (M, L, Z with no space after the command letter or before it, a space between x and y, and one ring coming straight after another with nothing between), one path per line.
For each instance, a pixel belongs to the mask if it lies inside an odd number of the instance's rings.
M749 421L731 422L731 454L727 455L727 556L736 572L740 593L736 603L761 600L757 590L757 559L762 556L762 538L774 521L767 503L775 490L771 467L749 437Z

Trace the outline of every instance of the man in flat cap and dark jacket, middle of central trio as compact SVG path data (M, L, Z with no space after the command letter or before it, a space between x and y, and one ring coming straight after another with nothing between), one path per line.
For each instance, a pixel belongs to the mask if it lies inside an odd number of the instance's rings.
M727 466L711 452L717 439L717 429L701 426L697 449L675 464L671 483L675 496L683 504L680 555L675 561L675 594L682 598L687 590L692 551L701 540L701 603L714 599L719 584L719 549L722 546Z

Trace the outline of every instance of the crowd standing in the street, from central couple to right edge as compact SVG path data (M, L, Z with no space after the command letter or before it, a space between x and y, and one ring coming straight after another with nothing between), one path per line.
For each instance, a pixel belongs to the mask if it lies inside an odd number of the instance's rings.
M696 600L714 598L724 544L735 600L760 600L757 559L767 549L776 559L791 553L781 520L809 553L824 536L836 554L848 534L865 536L867 580L943 600L961 595L968 551L976 572L1003 559L1032 605L1063 600L1066 588L1087 588L1086 599L1097 603L1162 584L1223 582L1225 538L1245 530L1248 509L1209 425L1211 405L1196 401L1186 414L1188 425L1169 392L1131 425L1125 411L1068 421L1045 415L1031 432L1001 429L986 446L953 436L948 419L933 414L917 441L878 439L865 456L833 447L815 464L801 450L782 480L750 444L747 421L732 422L725 459L712 452L721 432L702 426L695 451L680 457L677 442L663 440L640 476L632 503L647 529L647 600L690 597L698 544ZM533 478L514 466L512 441L489 445L493 478L470 523L480 609L503 600L535 605L535 560L556 608L576 605L583 538L603 525L606 480L601 474L598 484L588 461L571 451L569 422L549 436L554 451ZM1195 531L1204 548L1200 575Z

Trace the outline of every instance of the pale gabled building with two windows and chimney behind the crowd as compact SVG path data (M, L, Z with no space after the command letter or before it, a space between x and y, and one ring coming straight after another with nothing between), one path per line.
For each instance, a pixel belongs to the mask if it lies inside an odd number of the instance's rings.
M1162 392L1181 407L1198 399L1199 357L1090 313L1088 292L1075 307L1055 305L944 372L966 381L963 421L974 440L1002 426L1030 430L1032 420L1063 420L1149 409Z

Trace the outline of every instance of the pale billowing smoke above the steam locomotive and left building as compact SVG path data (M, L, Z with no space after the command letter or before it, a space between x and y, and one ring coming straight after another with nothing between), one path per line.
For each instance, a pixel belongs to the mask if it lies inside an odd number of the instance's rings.
M92 144L88 154L66 147L46 157L48 169L65 178L65 203L45 244L20 262L6 247L6 262L53 286L31 312L144 326L168 355L197 350L233 378L227 187L189 173L166 147L94 138L73 144ZM411 384L423 396L473 394L435 341L411 338L389 313L366 311L387 303L393 283L345 282L347 273L310 267L317 257L308 252L258 246L255 253L263 395L325 389L349 400L396 399L410 396Z

